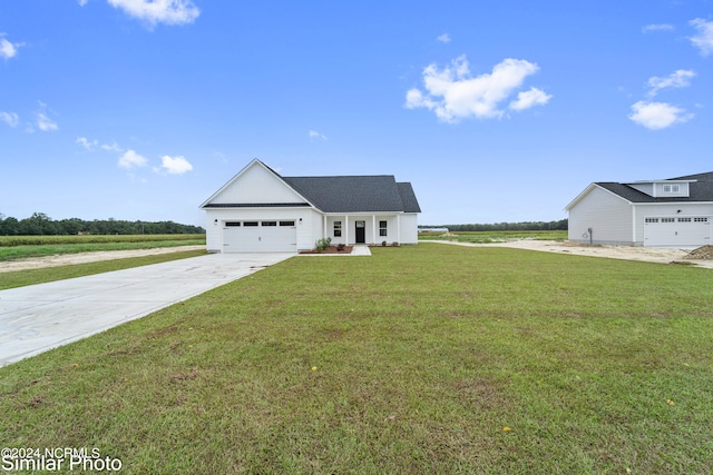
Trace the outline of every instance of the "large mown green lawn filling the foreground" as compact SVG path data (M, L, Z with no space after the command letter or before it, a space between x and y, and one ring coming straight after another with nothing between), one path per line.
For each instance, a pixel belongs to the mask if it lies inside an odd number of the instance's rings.
M0 368L8 447L135 473L707 474L713 273L422 244L293 258Z

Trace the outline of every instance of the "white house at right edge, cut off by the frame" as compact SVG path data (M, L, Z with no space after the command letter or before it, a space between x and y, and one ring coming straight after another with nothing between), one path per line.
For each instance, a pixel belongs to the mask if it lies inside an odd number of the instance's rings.
M713 172L594 182L566 208L569 240L652 247L711 244Z

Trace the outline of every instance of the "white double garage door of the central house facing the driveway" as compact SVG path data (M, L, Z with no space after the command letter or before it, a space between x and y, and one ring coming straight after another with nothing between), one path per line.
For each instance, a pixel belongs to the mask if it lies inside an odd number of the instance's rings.
M223 228L224 253L296 253L297 228L292 220L228 221Z

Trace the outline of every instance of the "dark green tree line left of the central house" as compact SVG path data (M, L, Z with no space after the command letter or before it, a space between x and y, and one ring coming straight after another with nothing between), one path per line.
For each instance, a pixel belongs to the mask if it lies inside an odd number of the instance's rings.
M127 221L120 219L79 218L55 220L43 212L17 219L0 214L0 236L68 236L68 235L175 235L205 234L199 226L180 225L174 221Z

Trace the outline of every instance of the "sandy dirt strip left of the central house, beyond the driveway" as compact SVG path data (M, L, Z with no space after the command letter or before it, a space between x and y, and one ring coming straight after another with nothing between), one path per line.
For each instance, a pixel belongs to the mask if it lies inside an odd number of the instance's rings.
M124 259L128 257L154 256L157 254L180 253L184 250L205 249L205 246L160 247L154 249L101 250L97 253L64 254L0 263L0 273L16 270L41 269L45 267L71 266L75 264L96 263L99 260Z

